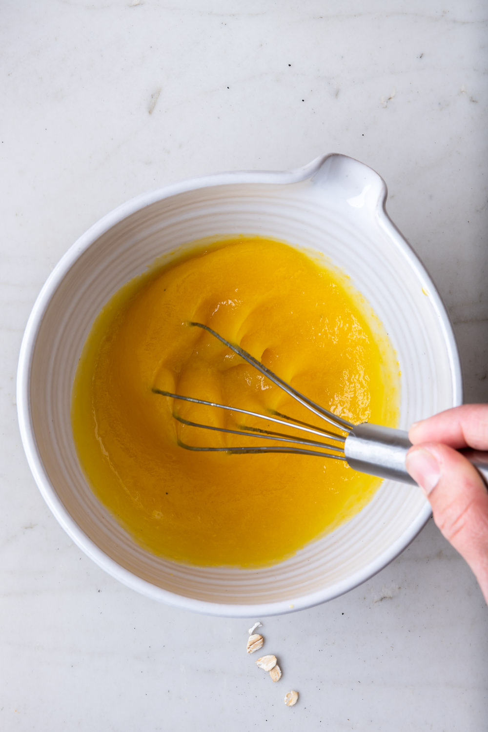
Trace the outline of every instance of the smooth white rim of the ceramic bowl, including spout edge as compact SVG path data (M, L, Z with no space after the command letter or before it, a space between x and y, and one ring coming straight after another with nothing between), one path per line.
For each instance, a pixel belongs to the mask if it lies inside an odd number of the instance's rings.
M448 349L451 374L453 376L453 403L454 406L461 404L462 370L459 361L459 352L451 319L449 318L448 311L443 304L443 300L441 299L440 294L438 293L437 288L424 265L421 263L416 253L414 253L413 249L410 247L410 244L408 244L405 237L402 236L399 229L394 225L386 212L387 188L384 180L378 175L378 173L373 171L372 168L364 165L364 163L359 163L358 161L353 160L353 158L342 154L332 153L320 156L315 158L315 160L312 160L311 163L303 165L302 167L296 168L292 171L230 171L225 173L214 173L208 176L186 179L135 196L135 198L131 198L129 201L121 203L121 205L117 206L116 209L105 214L105 216L97 221L97 223L94 223L94 225L91 225L91 227L82 234L74 244L71 245L48 276L48 279L45 281L45 284L42 286L42 289L34 302L34 306L32 307L26 324L26 329L23 334L17 370L18 422L20 437L22 439L23 449L26 453L27 462L29 463L29 468L31 469L31 473L37 483L37 487L39 488L42 497L45 499L45 502L48 504L51 512L53 512L56 520L58 520L59 524L71 537L73 542L75 542L78 548L80 548L86 556L89 556L90 559L92 559L99 567L104 569L105 572L108 572L108 574L113 578L153 600L165 602L167 605L172 605L173 607L182 608L184 610L192 610L206 615L231 618L282 615L285 613L296 612L297 610L311 608L314 605L319 605L322 602L333 600L334 598L339 597L339 595L345 594L345 592L354 589L380 572L381 569L390 564L391 561L396 559L397 556L399 556L399 554L402 553L408 545L410 545L410 542L413 541L432 515L430 505L426 499L424 508L419 512L416 520L409 526L408 530L404 531L400 537L397 537L388 550L384 550L383 553L375 559L375 561L369 562L369 564L362 567L357 572L354 572L353 575L350 575L347 579L340 580L326 589L296 597L293 602L290 602L290 600L282 600L279 602L261 602L254 603L252 605L245 605L242 603L227 604L209 602L207 600L196 600L192 597L186 597L184 595L162 589L146 580L143 580L138 577L138 575L135 575L128 569L125 569L105 554L105 552L100 549L82 529L80 529L78 524L64 507L64 504L62 504L61 499L57 495L56 490L53 488L48 474L45 471L40 457L40 452L37 448L36 438L34 436L34 426L31 419L29 389L31 380L31 362L37 335L50 300L55 294L61 281L75 262L78 261L80 256L91 246L91 244L102 236L102 234L105 234L106 231L113 228L113 226L120 223L131 214L140 211L140 209L143 209L146 206L150 206L151 203L162 201L165 198L171 198L179 195L180 193L187 193L192 190L214 186L227 186L233 184L285 185L297 183L312 178L316 173L318 173L318 171L320 171L320 168L322 168L322 166L332 158L357 163L364 168L364 171L369 171L370 175L375 176L377 182L379 179L380 194L376 206L376 215L380 225L386 229L388 235L394 240L394 243L400 250L402 250L403 255L408 259L410 266L412 266L416 272L419 282L421 282L429 292L429 298L431 299L438 315L440 329L443 332L446 348Z

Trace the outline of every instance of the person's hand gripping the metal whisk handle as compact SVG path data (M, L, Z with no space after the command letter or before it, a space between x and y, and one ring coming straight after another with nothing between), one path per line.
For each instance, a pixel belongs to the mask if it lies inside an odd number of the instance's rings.
M430 501L434 520L468 562L488 602L488 490L456 449L488 449L488 404L465 404L416 422L407 470Z

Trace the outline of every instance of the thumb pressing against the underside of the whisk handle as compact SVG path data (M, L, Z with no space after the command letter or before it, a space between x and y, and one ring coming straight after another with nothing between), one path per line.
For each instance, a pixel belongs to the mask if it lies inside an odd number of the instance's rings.
M424 490L444 537L473 569L488 602L488 491L457 450L427 442L410 448L407 470Z

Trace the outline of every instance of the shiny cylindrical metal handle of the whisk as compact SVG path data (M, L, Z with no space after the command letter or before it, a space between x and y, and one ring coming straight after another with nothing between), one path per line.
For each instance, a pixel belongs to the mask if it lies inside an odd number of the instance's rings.
M405 468L405 458L412 443L404 430L369 425L364 422L350 431L344 445L351 468L361 473L391 478L416 485ZM459 452L475 466L488 486L488 452L462 449Z

